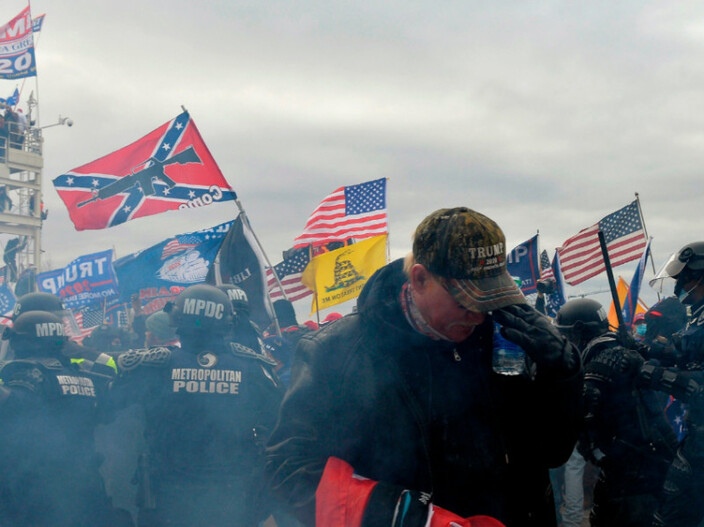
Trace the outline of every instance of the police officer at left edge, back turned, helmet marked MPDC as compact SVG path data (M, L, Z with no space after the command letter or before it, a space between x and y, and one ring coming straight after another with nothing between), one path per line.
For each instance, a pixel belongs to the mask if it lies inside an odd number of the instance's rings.
M15 359L0 369L0 523L118 525L93 440L110 377L71 363L63 322L53 313L23 312L3 339ZM123 519L119 525L131 525Z

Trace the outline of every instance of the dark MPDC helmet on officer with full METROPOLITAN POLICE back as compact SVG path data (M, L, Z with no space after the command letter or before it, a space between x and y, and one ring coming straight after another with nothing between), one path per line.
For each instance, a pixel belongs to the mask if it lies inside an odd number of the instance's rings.
M232 303L217 287L192 285L164 306L170 324L184 333L226 333L232 323Z

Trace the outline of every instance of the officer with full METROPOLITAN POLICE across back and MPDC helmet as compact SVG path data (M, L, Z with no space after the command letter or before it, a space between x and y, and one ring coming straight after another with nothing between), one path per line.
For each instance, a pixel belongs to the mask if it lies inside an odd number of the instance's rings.
M165 310L181 348L120 354L111 393L145 412L139 524L257 525L270 512L261 446L282 397L272 361L229 338L232 304L214 286Z

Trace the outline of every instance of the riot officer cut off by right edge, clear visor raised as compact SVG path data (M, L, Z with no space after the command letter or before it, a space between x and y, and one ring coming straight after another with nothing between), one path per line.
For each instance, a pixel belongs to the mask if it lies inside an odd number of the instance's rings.
M704 242L677 251L662 276L676 280L675 295L690 306L691 318L673 336L675 366L645 364L639 383L669 393L689 408L687 435L667 472L653 526L690 527L704 518Z

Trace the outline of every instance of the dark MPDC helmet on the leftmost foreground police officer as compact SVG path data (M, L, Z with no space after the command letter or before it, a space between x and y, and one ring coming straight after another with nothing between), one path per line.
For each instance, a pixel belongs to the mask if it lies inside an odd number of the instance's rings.
M49 311L25 311L5 328L3 340L9 340L18 357L56 356L66 344L63 321Z

